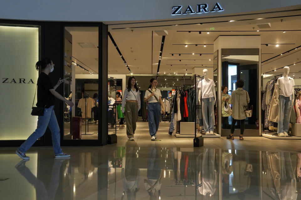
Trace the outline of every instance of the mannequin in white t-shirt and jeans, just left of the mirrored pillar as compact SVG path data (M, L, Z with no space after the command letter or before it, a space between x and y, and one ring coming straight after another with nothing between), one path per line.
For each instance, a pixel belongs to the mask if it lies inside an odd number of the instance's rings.
M214 104L216 103L215 83L208 78L208 70L203 70L204 79L198 83L198 102L202 105L203 124L206 135L214 135ZM202 104L201 104L202 100ZM208 113L209 111L209 118Z

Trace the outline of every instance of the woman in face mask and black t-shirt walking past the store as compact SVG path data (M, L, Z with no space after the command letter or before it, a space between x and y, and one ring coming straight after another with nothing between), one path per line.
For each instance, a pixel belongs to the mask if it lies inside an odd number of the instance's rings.
M48 126L51 131L55 157L70 157L69 154L63 153L60 147L60 127L54 113L54 97L66 102L71 107L74 106L74 104L55 91L55 89L64 82L61 78L55 86L52 86L48 74L54 70L54 64L50 58L43 58L38 61L36 63L36 69L41 71L37 82L38 89L36 106L45 107L45 111L43 116L38 117L38 125L34 133L25 140L25 142L16 150L16 153L22 159L29 159L25 153L38 138L44 135Z

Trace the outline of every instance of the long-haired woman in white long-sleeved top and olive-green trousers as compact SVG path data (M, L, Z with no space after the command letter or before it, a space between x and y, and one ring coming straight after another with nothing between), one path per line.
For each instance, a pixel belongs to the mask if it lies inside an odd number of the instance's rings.
M124 92L122 100L121 111L124 113L125 104L125 119L126 119L126 135L129 140L134 140L136 130L136 122L138 120L138 111L140 110L140 91L137 87L136 79L130 77L128 80L128 87ZM127 99L126 103L125 100Z

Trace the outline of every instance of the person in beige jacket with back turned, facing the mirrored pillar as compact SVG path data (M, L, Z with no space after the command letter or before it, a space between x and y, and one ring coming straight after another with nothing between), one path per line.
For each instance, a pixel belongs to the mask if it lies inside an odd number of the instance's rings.
M233 133L235 129L235 123L240 122L240 136L239 139L243 140L244 138L242 135L245 131L245 120L246 114L244 106L248 107L248 103L250 103L249 94L246 90L242 89L244 87L244 81L238 80L236 82L237 89L232 92L231 99L232 99L232 124L231 124L231 134L227 136L227 139L234 139Z

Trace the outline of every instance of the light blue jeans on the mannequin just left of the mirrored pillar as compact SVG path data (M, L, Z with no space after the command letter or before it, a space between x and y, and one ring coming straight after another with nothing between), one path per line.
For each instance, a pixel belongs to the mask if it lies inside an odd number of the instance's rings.
M211 101L210 101L211 99ZM209 111L209 118L208 118L208 111ZM202 99L202 113L203 113L203 124L204 124L204 131L209 132L213 131L214 129L214 98L203 98Z

